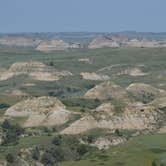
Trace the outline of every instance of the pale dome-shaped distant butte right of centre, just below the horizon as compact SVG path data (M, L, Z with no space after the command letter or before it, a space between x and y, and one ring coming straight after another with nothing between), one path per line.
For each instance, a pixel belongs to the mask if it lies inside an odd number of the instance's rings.
M104 48L104 47L120 47L120 45L111 38L98 37L94 39L88 46L90 49Z

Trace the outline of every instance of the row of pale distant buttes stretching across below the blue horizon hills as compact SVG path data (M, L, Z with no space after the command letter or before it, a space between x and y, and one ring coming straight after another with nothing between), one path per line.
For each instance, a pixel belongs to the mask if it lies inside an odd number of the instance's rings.
M38 51L50 52L79 48L119 48L119 47L139 47L139 48L158 48L166 47L166 41L129 39L123 35L98 35L87 45L77 42L65 42L62 39L37 38L35 36L4 36L0 37L0 45L3 47L23 47L35 48Z

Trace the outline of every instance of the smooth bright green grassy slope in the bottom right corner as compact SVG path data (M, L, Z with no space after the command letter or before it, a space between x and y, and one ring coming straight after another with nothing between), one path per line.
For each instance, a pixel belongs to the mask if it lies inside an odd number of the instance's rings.
M81 161L64 162L62 166L151 166L152 161L165 164L166 134L144 135L108 151L92 154Z

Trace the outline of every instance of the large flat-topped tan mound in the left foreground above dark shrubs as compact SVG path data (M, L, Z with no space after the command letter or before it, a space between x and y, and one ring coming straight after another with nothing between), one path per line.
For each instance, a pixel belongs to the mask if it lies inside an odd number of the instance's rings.
M5 116L27 117L25 127L61 125L72 113L55 97L28 99L10 107Z

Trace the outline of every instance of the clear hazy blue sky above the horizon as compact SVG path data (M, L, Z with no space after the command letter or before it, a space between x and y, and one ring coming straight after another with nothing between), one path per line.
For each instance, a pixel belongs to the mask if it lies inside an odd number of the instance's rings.
M0 32L166 32L166 0L0 0Z

